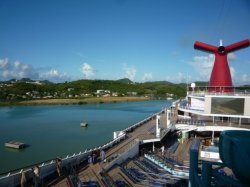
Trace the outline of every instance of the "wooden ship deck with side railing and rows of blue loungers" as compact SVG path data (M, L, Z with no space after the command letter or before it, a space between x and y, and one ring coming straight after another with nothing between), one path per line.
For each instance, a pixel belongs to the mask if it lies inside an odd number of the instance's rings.
M103 146L60 159L59 164L55 159L21 171L14 171L2 176L0 184L7 186L20 184L21 186L35 184L42 186L165 186L169 184L175 186L184 184L183 181L187 181L188 175L178 176L177 172L174 177L167 170L176 170L180 173L185 170L185 173L188 173L188 166L185 165L188 165L191 142L183 142L183 146L180 146L177 134L173 133L175 130L170 126L170 120L167 120L170 116L172 116L171 119L175 119L173 115L174 111L164 109L121 131L125 133L118 132L118 137ZM172 140L167 143L166 137L172 134L174 134L173 138L168 138L168 141ZM105 152L105 159L102 158L102 151ZM156 161L157 163L154 163ZM39 168L39 177L34 177L34 167Z

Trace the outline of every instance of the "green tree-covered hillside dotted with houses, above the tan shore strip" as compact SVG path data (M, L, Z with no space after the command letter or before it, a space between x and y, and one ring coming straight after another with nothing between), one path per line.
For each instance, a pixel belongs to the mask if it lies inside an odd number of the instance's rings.
M0 101L23 101L53 98L81 98L101 96L145 96L173 98L185 96L186 87L166 81L135 83L120 80L77 80L64 83L34 81L30 79L0 82ZM99 91L98 91L99 90Z

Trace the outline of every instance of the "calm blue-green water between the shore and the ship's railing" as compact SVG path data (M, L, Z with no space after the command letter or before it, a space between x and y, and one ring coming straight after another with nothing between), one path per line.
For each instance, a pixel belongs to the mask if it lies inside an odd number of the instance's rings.
M79 153L110 141L122 130L169 106L165 100L56 106L0 107L0 173ZM80 122L87 121L87 128ZM23 151L6 141L29 144Z

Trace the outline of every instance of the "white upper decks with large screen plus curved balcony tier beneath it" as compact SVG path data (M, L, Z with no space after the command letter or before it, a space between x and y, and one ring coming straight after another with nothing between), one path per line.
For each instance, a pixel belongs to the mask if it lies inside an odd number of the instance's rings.
M179 116L186 117L192 124L205 121L205 126L250 129L250 90L230 87L232 92L212 92L210 88L189 88L186 98L173 104Z

